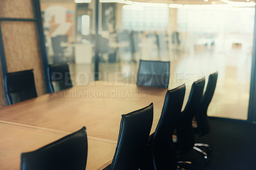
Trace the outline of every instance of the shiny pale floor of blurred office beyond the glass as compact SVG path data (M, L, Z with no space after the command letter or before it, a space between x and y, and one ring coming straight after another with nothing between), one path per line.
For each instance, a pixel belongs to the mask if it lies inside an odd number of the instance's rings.
M171 61L170 88L186 83L189 93L189 86L193 81L205 76L207 83L209 74L218 71L218 83L209 106L209 116L246 120L252 63L250 48L219 50L201 46L196 47L193 53L189 55L188 52L162 52L164 58L147 58L141 56L142 52L138 52L137 62L129 62L120 57L116 63L100 63L99 78L103 81L136 83L138 59ZM93 81L93 69L93 64L71 64L70 71L74 77L74 84Z

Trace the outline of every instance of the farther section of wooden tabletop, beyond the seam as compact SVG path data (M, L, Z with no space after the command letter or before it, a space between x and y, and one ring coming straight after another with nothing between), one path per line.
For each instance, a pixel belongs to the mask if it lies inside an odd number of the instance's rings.
M121 115L154 104L152 132L163 107L166 89L95 82L0 109L0 120L63 132L85 126L88 136L117 141Z

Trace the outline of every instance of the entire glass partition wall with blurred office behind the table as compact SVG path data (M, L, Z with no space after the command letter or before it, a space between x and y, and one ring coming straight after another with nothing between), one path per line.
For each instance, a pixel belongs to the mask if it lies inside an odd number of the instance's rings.
M246 120L255 3L216 2L99 3L99 80L136 84L140 59L170 61L170 88L186 83L189 93L218 71L209 116ZM49 61L70 63L75 85L94 81L95 1L41 0L41 8Z

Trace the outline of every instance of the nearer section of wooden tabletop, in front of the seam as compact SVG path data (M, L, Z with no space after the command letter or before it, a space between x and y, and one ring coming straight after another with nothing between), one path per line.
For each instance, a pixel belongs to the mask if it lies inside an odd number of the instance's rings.
M20 153L37 150L70 134L1 121L0 129L0 169L10 170L20 169ZM115 143L88 137L86 169L101 169L100 167L113 158L115 147Z

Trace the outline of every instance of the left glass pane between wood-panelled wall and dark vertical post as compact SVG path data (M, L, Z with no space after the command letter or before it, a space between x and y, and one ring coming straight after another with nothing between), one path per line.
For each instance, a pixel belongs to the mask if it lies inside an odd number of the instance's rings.
M68 63L75 86L93 81L93 2L41 0L40 3L49 64Z

